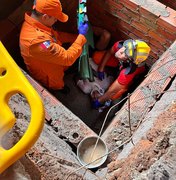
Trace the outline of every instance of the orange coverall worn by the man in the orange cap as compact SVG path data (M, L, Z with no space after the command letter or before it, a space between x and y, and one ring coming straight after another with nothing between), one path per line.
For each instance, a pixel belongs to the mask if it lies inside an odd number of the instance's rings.
M73 42L66 50L62 43ZM30 14L20 33L21 55L32 77L51 89L62 89L64 71L81 55L86 38L79 34L75 39L69 33L56 33L41 24Z

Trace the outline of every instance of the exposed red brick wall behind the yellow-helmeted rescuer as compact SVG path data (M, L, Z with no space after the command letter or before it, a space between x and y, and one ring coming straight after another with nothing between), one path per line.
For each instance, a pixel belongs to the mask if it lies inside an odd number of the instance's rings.
M88 1L89 19L92 24L107 28L115 40L146 40L152 48L153 63L176 39L176 11L158 1L148 0L144 6L136 2L141 3L137 0Z

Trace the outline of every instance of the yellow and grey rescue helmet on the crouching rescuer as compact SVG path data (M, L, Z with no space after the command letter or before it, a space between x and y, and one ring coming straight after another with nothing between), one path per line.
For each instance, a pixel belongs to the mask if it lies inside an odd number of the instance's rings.
M123 46L126 56L136 65L144 62L150 53L150 47L143 40L128 39L124 41Z

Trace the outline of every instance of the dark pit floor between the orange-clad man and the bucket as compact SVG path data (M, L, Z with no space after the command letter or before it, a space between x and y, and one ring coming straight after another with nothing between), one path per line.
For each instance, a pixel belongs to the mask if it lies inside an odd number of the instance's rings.
M72 111L72 113L78 116L89 128L99 134L108 109L105 109L103 112L92 109L90 95L83 93L76 85L75 76L78 72L77 68L78 64L75 63L65 73L64 82L70 88L70 93L63 94L57 91L53 95ZM111 119L112 113L111 116L108 116L106 121L107 125Z

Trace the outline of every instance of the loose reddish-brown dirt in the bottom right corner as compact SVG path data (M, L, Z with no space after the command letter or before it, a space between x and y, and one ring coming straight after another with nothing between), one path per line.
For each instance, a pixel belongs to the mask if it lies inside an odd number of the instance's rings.
M149 173L147 175L147 172L149 172L152 165L174 148L174 144L171 144L170 140L173 138L171 135L174 132L176 133L175 112L176 104L173 104L158 117L153 128L148 132L146 139L141 140L135 145L128 159L111 162L108 165L107 179L137 179L136 175L143 172L146 173L146 178L143 178L149 179ZM167 170L162 170L162 168L160 170L162 175L158 175L158 178L169 179ZM153 178L157 177L157 173L153 173L152 176Z

